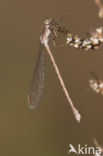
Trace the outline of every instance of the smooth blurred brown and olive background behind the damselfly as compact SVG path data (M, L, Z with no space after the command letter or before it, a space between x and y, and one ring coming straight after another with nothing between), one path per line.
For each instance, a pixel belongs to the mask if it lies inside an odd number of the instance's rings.
M27 95L46 17L59 19L73 33L87 37L103 25L93 0L0 0L0 155L67 156L69 144L103 144L103 97L89 87L90 71L103 78L103 48L84 51L52 46L74 105L78 124L44 51L46 78L36 110ZM73 155L73 154L72 154Z

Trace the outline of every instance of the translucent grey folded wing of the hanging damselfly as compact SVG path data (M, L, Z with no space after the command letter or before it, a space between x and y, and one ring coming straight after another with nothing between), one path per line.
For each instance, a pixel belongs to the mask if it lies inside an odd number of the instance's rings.
M30 109L35 109L39 105L39 101L44 88L45 78L45 61L43 55L43 45L40 43L38 58L34 68L31 87L28 95L28 104Z

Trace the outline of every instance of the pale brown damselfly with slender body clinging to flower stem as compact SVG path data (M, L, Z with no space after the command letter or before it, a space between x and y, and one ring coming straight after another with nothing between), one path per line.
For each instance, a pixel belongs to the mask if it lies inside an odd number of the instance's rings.
M59 72L59 69L57 67L57 64L55 62L55 59L52 55L52 52L51 52L49 44L48 44L50 34L52 34L52 36L54 37L56 35L56 33L61 30L61 27L58 25L58 23L55 23L55 21L52 18L45 20L44 24L45 24L44 29L40 35L40 50L39 50L39 54L38 54L38 60L37 60L36 67L34 69L31 87L30 87L30 91L29 91L29 95L28 95L29 107L31 109L35 109L38 106L39 100L40 100L40 97L41 97L41 94L42 94L42 91L44 88L45 70L44 70L44 56L43 56L43 51L42 51L43 46L44 46L47 50L48 56L52 62L54 69L55 69L59 83L63 89L66 99L74 113L74 116L75 116L76 120L78 122L80 122L81 115L78 113L78 110L74 107L74 105L71 101L69 93L66 89L64 81L62 79L62 76Z

